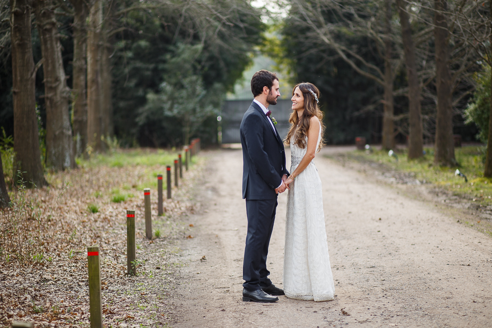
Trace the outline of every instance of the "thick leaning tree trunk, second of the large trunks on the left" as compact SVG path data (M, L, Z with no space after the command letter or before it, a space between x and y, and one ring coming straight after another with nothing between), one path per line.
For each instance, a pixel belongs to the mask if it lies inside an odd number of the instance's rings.
M35 0L34 12L41 40L46 104L46 162L54 170L73 169L72 127L69 117L70 89L61 59L61 45L50 0Z

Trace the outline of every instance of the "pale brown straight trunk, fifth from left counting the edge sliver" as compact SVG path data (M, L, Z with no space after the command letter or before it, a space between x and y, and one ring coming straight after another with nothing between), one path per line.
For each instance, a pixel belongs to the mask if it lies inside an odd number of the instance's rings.
M87 38L87 143L95 152L103 151L103 110L101 57L103 56L103 1L94 0L89 11Z

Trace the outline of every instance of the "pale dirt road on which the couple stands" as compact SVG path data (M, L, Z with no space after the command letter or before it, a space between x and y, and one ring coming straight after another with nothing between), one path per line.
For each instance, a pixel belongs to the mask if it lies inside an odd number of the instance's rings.
M241 150L203 155L209 165L198 188L206 206L191 218L194 238L181 245L187 264L174 327L492 327L492 240L457 223L458 212L441 211L320 154L315 162L335 300L242 302ZM279 196L268 258L280 287L286 196Z

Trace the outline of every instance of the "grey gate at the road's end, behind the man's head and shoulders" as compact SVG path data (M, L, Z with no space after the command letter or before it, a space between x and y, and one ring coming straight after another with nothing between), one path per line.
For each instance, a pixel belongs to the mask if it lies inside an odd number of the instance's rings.
M248 110L253 100L226 100L222 107L222 144L235 144L241 142L239 126L244 112ZM275 128L283 139L289 130L289 115L292 112L290 99L278 99L277 105L270 105L273 117L278 124Z

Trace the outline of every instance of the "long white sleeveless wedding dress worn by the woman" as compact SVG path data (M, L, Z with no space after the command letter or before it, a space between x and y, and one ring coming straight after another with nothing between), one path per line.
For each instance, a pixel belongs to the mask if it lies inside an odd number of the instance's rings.
M321 129L318 136L318 149ZM307 144L308 138L306 138ZM291 171L306 154L291 140ZM283 261L285 296L300 300L328 301L334 299L335 283L328 255L324 225L321 180L314 160L290 185L285 227Z

